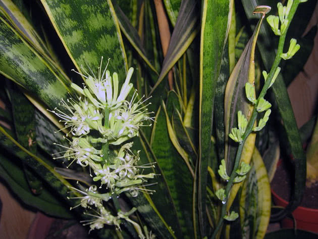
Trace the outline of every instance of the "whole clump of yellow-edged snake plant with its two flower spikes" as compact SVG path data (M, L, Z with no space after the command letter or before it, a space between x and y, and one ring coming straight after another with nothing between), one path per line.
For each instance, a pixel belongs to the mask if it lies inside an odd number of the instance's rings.
M275 218L303 194L302 2L1 0L1 176L100 238L263 238L279 117L296 183Z

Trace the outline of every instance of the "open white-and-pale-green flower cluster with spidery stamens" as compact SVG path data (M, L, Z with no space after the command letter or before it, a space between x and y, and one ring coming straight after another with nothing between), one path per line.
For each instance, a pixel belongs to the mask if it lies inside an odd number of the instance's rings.
M56 144L64 151L54 159L65 158L70 164L77 162L82 167L88 166L93 181L98 182L99 188L103 190L102 194L98 193L96 185L81 190L73 188L83 195L70 198L81 200L76 207L82 206L92 211L85 214L94 219L84 221L91 229L102 228L104 224L119 227L120 219L134 224L128 216L135 209L129 213L119 210L118 215L114 216L103 203L108 202L113 194L129 192L136 197L140 190L152 193L153 190L145 189L144 186L150 185L145 182L155 176L155 173L143 174L143 170L139 170L154 165L138 166L139 151L134 154L131 150L133 143L126 142L138 135L140 126L150 126L149 122L153 120L149 116L152 112L148 113L146 108L150 103L144 104L147 100L144 100L144 97L137 100L136 90L131 99L127 100L133 88L130 83L133 68L128 70L120 91L118 74L114 72L111 76L107 66L103 71L101 69L102 59L97 77L91 69L90 74L85 69L82 69L84 74L77 72L85 82L83 88L71 84L78 93L77 98L62 99L59 104L61 108L51 111L60 117L60 122L69 129L66 136L72 136L68 139L69 146ZM144 238L141 228L138 231L139 236Z

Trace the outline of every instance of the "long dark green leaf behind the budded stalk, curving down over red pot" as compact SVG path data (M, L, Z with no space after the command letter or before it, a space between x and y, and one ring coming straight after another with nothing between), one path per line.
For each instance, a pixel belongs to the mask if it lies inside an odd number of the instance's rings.
M242 3L247 18L249 20L254 18L250 11L251 8L253 8L255 4L257 4L257 1L243 0ZM261 38L258 41L257 46L263 64L266 67L266 70L269 71L275 59L275 53L268 51L267 46L269 45L269 43L264 42L264 40L270 39L271 30L265 25L263 25L261 27L260 36ZM291 155L295 159L295 184L293 190L293 197L289 205L287 206L286 210L280 212L279 215L275 216L275 219L278 220L280 218L283 218L289 212L293 211L300 204L302 195L304 193L306 181L306 156L302 148L298 127L289 101L286 85L281 74L278 75L275 84L273 84L272 88L275 94L275 100L278 105L280 115L282 117L283 126L286 129L287 140L291 148Z

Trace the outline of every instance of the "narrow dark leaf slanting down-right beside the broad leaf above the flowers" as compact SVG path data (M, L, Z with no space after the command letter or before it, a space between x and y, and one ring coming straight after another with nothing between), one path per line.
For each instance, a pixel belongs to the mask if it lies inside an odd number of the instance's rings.
M149 68L154 71L157 75L157 71L152 66L150 61L146 57L145 50L143 49L143 46L141 45L141 39L138 35L137 30L131 25L129 19L126 17L126 15L123 13L123 11L120 9L119 5L114 3L114 9L116 11L116 16L118 17L118 22L120 25L120 28L124 35L127 37L131 45L134 47L134 49L137 51L139 56L145 61L145 63L149 66Z

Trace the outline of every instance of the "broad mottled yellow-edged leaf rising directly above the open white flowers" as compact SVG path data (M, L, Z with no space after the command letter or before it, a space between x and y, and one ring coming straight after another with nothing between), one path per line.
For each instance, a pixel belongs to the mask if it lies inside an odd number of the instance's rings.
M96 69L101 57L111 58L108 69L123 83L128 71L118 20L110 0L41 0L67 53L79 72ZM95 72L95 71L93 71Z

